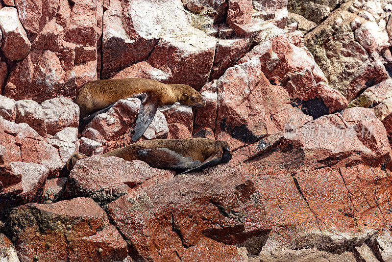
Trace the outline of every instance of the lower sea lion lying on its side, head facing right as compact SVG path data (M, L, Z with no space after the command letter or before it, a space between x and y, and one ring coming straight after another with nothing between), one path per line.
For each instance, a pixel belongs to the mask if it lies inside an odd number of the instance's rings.
M185 174L228 162L232 153L225 141L199 137L146 140L101 155L101 157L113 156L127 161L142 160L152 167L174 169L183 171L180 174ZM71 171L75 162L81 158L86 156L81 153L73 154L67 161L67 169Z

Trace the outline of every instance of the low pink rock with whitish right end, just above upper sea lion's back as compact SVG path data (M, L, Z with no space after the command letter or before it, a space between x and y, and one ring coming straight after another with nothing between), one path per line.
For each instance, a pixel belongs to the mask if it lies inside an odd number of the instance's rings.
M169 79L169 76L163 73L162 70L152 67L147 62L139 62L121 70L111 79L122 78L146 78L159 82L166 82Z

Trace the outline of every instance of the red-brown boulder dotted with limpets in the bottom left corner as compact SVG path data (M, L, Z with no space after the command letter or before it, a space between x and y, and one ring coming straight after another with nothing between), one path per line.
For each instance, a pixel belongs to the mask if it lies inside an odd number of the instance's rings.
M118 261L127 256L126 242L90 198L20 206L11 212L8 225L23 261L34 256L50 261Z

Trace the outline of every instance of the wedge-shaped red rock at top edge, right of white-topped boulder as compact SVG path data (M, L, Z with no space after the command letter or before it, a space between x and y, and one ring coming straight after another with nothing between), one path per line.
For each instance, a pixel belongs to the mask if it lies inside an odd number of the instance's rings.
M19 19L29 35L40 33L41 29L57 13L60 0L14 0Z

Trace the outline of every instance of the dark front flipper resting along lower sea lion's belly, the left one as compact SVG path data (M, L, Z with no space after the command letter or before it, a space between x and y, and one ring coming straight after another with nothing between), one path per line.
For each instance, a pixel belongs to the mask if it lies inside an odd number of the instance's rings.
M183 157L167 148L139 149L138 157L156 168L188 169L201 164L199 160L192 160L192 157Z

